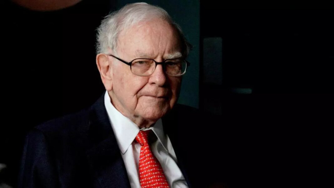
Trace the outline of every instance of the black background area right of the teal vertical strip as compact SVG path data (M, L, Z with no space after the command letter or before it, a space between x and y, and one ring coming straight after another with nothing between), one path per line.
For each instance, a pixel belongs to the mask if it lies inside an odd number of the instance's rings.
M199 108L222 117L213 160L230 187L330 187L333 7L272 3L201 1Z

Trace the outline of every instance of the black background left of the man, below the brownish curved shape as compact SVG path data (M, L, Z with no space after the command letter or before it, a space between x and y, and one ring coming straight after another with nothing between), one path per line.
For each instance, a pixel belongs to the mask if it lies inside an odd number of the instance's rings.
M104 92L95 64L95 29L113 1L83 0L55 11L2 2L1 174L16 185L29 129L92 105Z

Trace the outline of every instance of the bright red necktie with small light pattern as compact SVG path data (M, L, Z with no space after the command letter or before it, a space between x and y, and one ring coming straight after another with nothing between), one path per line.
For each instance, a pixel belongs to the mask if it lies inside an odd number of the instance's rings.
M142 146L139 155L139 177L142 188L169 188L168 182L157 158L148 143L152 131L139 131L136 141ZM152 133L154 134L154 133Z

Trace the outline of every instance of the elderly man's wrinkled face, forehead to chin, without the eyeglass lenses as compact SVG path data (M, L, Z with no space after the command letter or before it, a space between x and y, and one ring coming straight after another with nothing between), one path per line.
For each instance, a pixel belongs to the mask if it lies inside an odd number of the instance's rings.
M151 58L157 62L180 57L180 44L175 28L163 20L136 24L122 31L118 38L117 56L127 62ZM113 105L130 119L156 121L173 108L177 101L181 77L168 76L157 65L150 76L138 76L130 66L109 57L112 67Z

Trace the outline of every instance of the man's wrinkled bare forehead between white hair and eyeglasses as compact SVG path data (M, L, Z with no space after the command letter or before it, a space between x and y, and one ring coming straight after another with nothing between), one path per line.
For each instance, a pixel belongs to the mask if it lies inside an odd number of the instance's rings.
M176 28L165 20L140 22L123 30L117 41L117 51L131 57L182 57L180 37Z

